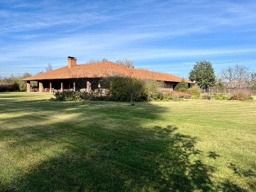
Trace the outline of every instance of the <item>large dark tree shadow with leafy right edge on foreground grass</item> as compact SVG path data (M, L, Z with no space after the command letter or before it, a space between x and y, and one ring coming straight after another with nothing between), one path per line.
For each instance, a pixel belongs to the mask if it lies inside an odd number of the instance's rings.
M92 143L76 135L65 152L24 170L6 191L211 190L214 167L191 160L202 153L195 148L196 138L176 130L172 125L137 127L132 137L91 137Z

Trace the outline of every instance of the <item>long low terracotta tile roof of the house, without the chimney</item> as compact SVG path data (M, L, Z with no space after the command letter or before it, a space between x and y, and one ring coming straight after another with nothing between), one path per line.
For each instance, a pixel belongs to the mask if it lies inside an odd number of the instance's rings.
M154 79L161 81L180 82L182 78L174 75L158 73L152 71L143 71L138 69L130 69L120 66L114 62L98 62L90 64L76 65L69 68L68 66L34 75L25 79L26 80L44 80L44 79L71 79L82 77L108 77L108 76L132 76L143 79ZM187 83L193 83L185 80Z

